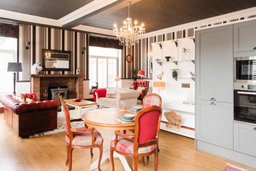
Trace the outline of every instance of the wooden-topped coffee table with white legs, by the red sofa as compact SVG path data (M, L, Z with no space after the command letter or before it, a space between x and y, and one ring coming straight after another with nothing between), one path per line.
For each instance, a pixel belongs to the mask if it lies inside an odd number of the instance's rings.
M77 118L81 118L82 108L92 108L92 107L96 108L96 106L97 106L96 102L92 102L92 101L88 101L88 100L81 100L78 102L78 101L74 101L74 99L67 99L64 101L66 102L66 104L75 107L75 109L78 111ZM62 106L61 106L61 112L63 112Z

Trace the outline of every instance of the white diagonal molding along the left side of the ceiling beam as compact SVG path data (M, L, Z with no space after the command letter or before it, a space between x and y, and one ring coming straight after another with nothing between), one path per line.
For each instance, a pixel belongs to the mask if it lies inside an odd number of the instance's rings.
M105 6L112 4L112 3L115 3L116 1L118 1L118 0L94 0L93 2L58 19L58 22L60 22L61 25L66 25L70 22L73 22L73 20L81 18L84 15L88 15L96 10L99 10Z

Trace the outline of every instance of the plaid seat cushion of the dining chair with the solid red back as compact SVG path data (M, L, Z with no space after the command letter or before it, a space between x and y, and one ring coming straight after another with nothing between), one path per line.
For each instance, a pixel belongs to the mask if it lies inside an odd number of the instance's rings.
M115 140L112 140L111 146L115 147L114 144L115 144ZM125 139L125 138L118 140L117 145L116 145L116 149L119 152L126 153L126 154L133 154L133 147L134 147L133 140L129 140L129 139ZM139 147L138 154L150 153L150 152L154 151L155 148L156 148L156 144L148 145L145 147Z

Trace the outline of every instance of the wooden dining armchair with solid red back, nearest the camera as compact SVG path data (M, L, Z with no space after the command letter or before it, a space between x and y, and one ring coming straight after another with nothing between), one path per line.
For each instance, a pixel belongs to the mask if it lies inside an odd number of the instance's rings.
M138 158L155 155L155 171L158 165L158 135L162 109L159 106L150 106L142 109L135 117L134 135L126 135L116 131L115 140L111 141L110 157L112 170L115 170L113 153L134 158L134 171L138 170ZM118 136L121 139L118 139Z

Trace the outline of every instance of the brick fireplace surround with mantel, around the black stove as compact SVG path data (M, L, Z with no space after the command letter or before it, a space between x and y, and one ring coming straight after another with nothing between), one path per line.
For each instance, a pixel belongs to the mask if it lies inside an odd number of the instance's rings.
M33 74L31 77L31 92L36 94L37 100L48 100L49 87L67 87L68 98L83 98L83 75L75 74Z

